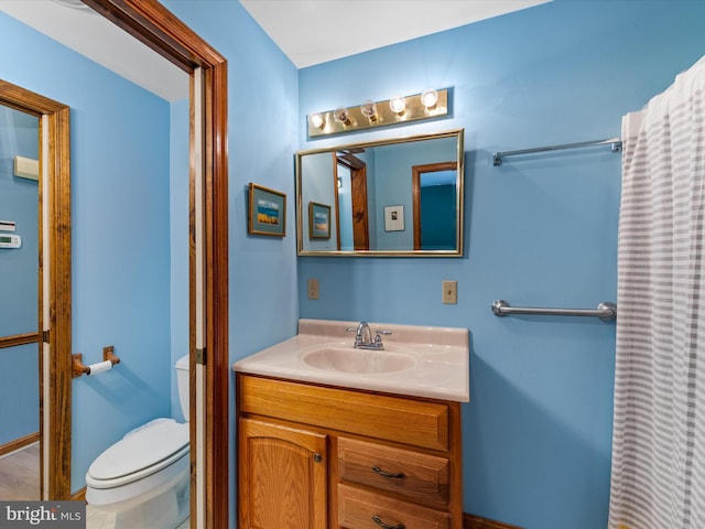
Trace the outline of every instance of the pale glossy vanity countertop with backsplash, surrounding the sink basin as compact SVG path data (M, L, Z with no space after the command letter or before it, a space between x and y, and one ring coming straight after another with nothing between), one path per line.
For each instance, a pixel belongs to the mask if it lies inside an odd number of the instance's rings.
M370 322L375 330L391 331L383 336L384 352L411 355L414 366L388 373L347 373L313 367L303 357L317 348L349 348L350 355L365 354L352 347L355 334L348 327L359 322L300 320L299 334L242 358L232 365L239 373L263 375L305 382L325 384L371 391L468 402L469 332L466 328L392 325Z

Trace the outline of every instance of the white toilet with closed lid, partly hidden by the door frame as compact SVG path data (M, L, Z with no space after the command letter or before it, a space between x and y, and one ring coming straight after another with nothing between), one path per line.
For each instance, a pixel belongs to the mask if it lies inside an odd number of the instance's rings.
M188 356L176 363L178 399L188 419ZM116 514L115 527L174 529L188 518L188 422L155 419L115 443L86 474L86 501Z

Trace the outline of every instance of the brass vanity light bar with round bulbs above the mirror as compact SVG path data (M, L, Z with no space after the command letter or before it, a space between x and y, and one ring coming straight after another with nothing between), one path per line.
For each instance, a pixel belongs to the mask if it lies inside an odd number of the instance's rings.
M359 107L338 107L307 116L308 137L338 134L357 130L403 125L448 115L448 89L429 89L413 96L393 96L384 101L370 99Z

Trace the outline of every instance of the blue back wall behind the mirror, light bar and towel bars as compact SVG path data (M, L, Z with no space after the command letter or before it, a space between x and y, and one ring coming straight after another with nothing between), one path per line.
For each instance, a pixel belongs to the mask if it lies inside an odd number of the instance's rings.
M465 128L463 259L300 258L300 315L467 327L465 510L527 529L606 527L615 325L498 319L490 304L616 300L620 159L494 151L617 137L705 50L705 3L554 1L300 72L300 147ZM345 79L341 83L340 79ZM306 114L451 87L430 125L307 141ZM317 278L318 301L306 299ZM458 304L441 282L458 281Z

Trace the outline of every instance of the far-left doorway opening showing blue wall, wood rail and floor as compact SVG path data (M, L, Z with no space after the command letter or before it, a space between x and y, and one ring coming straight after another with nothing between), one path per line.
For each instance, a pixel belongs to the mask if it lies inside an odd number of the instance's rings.
M36 116L0 106L0 498L40 499Z

